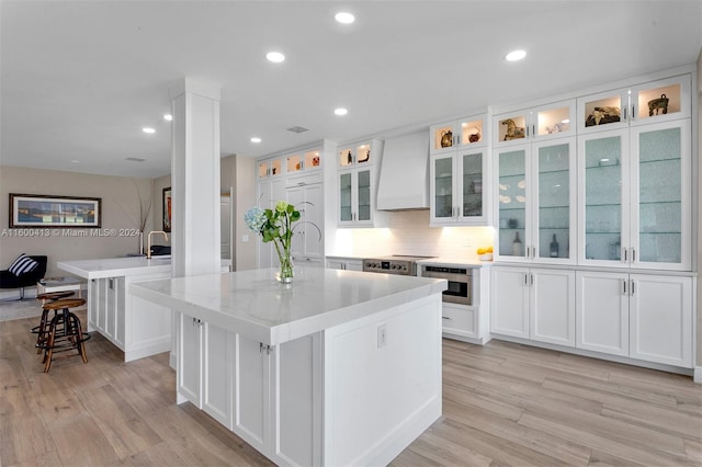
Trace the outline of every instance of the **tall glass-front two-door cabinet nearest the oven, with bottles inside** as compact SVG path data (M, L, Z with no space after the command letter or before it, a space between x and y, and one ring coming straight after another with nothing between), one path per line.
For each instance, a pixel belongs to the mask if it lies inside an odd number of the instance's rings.
M500 149L497 170L497 257L575 263L575 138Z

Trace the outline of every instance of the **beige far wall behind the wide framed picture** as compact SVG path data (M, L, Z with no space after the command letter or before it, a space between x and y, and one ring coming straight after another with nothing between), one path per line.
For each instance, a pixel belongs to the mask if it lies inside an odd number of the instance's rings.
M57 261L137 253L139 238L131 230L139 227L139 191L143 198L148 198L151 180L0 166L0 266L7 269L22 252L46 254L47 275L64 275L56 267ZM16 237L19 230L9 228L10 193L100 197L102 229L115 229L116 234L71 237L71 232L92 229L52 229L49 237ZM151 216L147 230L152 225ZM22 230L31 234L35 229Z

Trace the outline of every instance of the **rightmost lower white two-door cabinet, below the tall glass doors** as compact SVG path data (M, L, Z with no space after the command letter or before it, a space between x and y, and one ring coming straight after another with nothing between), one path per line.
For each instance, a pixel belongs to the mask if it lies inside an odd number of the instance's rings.
M577 273L577 348L692 367L692 278Z

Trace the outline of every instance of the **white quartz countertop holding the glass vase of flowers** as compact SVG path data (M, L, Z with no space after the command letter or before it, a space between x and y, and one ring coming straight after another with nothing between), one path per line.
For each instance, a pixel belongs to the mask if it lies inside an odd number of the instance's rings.
M295 267L293 284L275 270L239 271L147 281L132 294L278 345L377 311L440 294L445 280Z

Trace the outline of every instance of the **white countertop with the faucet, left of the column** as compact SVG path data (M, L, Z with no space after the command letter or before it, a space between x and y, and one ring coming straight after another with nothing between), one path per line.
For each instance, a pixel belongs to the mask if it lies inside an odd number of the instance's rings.
M99 260L59 261L58 269L79 277L92 280L124 275L152 274L171 271L171 257L107 258Z

